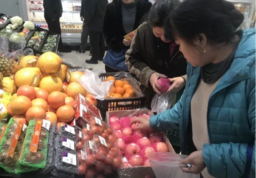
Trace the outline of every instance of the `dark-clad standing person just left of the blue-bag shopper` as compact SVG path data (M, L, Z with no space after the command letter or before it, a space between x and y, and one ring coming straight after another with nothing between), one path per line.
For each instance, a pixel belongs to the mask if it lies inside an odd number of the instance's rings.
M105 41L103 35L103 21L108 0L86 0L84 8L84 22L88 25L92 56L86 60L89 64L98 64L105 54Z

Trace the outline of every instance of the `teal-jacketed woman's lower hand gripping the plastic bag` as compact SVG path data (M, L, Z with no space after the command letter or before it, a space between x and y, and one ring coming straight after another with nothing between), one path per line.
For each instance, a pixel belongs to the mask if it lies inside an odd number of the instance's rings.
M190 168L180 167L183 172L199 174L204 170L206 165L204 164L202 151L196 151L191 153L186 159L180 161L181 164L191 164Z

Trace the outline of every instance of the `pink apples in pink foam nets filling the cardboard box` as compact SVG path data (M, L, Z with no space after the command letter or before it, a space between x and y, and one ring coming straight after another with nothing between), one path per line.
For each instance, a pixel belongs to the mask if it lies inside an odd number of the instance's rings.
M138 123L130 125L136 117L146 117L149 114L141 114L133 117L113 116L108 122L117 137L117 144L121 154L125 157L122 167L150 166L148 157L154 152L168 152L166 143L163 142L162 133L149 133L134 130ZM127 161L126 161L127 160Z

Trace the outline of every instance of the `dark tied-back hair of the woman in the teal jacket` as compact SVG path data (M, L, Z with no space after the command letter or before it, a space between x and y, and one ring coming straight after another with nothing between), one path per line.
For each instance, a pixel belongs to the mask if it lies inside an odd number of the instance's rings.
M188 42L204 33L211 43L230 42L242 24L243 14L225 0L185 0L165 23L165 35L176 32Z

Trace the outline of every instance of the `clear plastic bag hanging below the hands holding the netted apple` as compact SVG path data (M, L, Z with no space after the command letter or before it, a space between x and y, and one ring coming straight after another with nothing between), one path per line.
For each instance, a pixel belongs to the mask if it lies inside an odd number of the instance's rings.
M156 93L151 102L151 110L154 113L163 113L169 109L176 98L175 92L166 92L162 95Z

